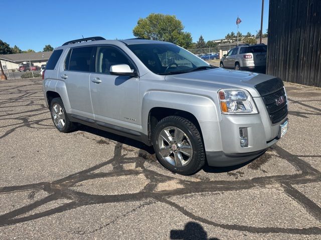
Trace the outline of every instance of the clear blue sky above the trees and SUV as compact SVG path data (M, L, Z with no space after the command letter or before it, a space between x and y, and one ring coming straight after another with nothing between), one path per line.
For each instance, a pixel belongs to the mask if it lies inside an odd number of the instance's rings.
M0 39L10 46L18 45L41 51L46 44L53 47L63 42L88 36L106 39L134 37L132 29L139 17L149 13L176 15L185 31L196 42L202 34L206 41L224 38L237 31L237 15L245 34L260 28L261 0L32 0L24 4L2 0ZM263 32L268 28L268 4L264 2ZM10 10L7 10L10 9Z

